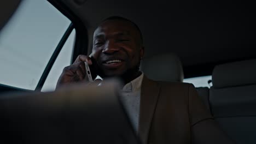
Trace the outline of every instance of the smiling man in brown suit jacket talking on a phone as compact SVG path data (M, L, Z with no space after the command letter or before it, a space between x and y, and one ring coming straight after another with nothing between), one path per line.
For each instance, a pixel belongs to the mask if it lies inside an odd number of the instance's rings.
M153 81L144 76L139 71L143 54L137 25L123 17L109 17L94 32L91 57L78 56L63 70L57 87L84 81L87 62L91 73L103 79L123 80L120 99L143 143L232 143L206 110L193 85Z

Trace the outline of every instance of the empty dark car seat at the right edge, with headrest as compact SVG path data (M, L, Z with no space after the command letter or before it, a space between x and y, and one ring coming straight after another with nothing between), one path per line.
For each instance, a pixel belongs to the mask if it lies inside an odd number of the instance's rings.
M212 83L214 118L237 143L256 143L256 59L216 66Z

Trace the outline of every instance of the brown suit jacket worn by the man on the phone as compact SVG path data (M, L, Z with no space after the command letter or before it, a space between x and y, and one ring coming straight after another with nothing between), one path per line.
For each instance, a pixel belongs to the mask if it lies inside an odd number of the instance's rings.
M138 135L142 143L233 143L189 83L143 77Z

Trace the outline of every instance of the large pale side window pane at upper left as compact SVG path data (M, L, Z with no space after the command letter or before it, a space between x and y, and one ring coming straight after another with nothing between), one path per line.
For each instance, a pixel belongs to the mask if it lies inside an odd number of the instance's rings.
M22 1L0 33L0 83L34 90L70 23L48 1Z

